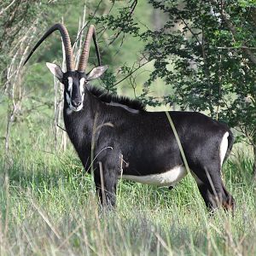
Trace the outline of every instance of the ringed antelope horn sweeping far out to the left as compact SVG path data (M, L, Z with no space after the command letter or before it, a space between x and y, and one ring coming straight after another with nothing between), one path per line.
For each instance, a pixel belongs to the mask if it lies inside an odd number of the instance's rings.
M38 48L38 46L44 42L44 39L48 38L52 32L55 32L55 30L58 30L59 32L61 32L61 38L65 48L67 71L74 71L75 67L73 62L73 49L71 46L70 38L67 32L67 28L60 23L57 23L54 26L51 26L49 30L44 33L44 36L38 41L38 44L34 46L30 54L26 57L26 61L30 59L30 57L32 56L34 51ZM26 64L26 61L24 62L23 66Z

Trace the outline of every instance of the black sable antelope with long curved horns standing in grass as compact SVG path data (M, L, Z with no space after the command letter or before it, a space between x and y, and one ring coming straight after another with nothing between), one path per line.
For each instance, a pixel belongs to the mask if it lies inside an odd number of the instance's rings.
M55 64L46 65L64 84L63 115L67 134L84 169L90 169L93 163L96 190L101 201L114 206L120 177L160 186L173 186L179 182L187 172L166 113L147 112L136 100L111 96L90 86L89 81L99 78L107 69L101 66L94 26L90 26L87 33L77 70L67 29L61 24L55 24L45 32L26 61L55 30L61 32L67 72L63 73ZM91 38L99 66L85 73ZM221 178L223 162L234 140L230 129L202 113L171 111L169 114L207 207L213 209L221 204L225 209L233 208L234 199Z

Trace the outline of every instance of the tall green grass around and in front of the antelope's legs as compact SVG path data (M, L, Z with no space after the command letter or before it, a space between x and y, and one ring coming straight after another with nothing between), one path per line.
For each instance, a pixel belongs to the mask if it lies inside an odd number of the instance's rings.
M209 216L190 176L171 191L121 181L115 211L102 212L73 149L55 152L49 134L41 131L36 144L14 139L8 162L1 148L1 255L256 254L256 188L245 155L224 166L234 218Z

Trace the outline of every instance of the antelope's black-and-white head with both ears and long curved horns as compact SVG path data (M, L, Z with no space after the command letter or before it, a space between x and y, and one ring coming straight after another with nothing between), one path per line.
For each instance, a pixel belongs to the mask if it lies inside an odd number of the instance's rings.
M26 61L29 60L38 46L44 42L44 39L47 38L55 30L61 32L61 38L65 49L67 72L63 72L60 66L53 63L47 62L46 66L49 68L49 71L53 73L57 79L59 79L61 84L64 84L64 98L67 102L68 108L78 112L83 108L84 104L84 86L86 86L90 80L98 79L100 76L102 76L108 67L101 66L101 58L96 41L96 30L93 25L90 26L87 32L77 70L75 69L74 65L73 49L67 28L62 24L55 24L54 26L51 26L47 32L44 33L44 36L38 41L38 44L34 46L31 53L27 56ZM85 73L90 53L91 38L93 38L96 47L98 67L94 67L90 73ZM24 65L26 64L26 61L24 62Z

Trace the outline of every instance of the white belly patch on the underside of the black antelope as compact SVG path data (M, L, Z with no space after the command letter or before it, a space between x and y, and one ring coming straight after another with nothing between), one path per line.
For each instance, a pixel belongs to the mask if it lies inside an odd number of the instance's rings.
M171 170L162 173L145 176L123 175L119 178L124 178L138 183L146 183L150 185L174 186L183 177L185 177L186 174L187 171L184 166L175 166Z

